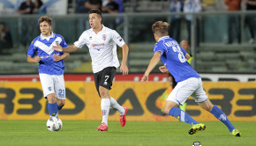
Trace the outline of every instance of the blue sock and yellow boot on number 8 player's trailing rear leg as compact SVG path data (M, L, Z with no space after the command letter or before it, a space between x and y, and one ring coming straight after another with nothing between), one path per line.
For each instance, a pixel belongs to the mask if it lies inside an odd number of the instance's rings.
M233 127L228 117L225 115L225 113L223 113L223 111L218 106L213 106L210 113L214 114L215 118L221 120L222 123L224 123L226 127L229 128L231 135L238 137L241 136L241 133L236 128Z

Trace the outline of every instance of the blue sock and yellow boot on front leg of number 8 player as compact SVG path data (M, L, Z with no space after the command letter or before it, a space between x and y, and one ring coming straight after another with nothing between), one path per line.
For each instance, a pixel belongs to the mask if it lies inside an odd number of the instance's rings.
M199 123L196 120L193 120L192 117L188 114L185 113L183 110L177 108L177 107L172 107L169 110L169 115L176 117L178 120L189 123L192 125L192 128L188 131L190 135L196 134L199 130L205 130L206 125Z

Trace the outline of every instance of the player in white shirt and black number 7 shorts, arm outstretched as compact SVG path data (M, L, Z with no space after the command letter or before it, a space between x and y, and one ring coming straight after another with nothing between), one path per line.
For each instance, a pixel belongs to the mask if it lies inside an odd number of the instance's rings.
M120 66L120 71L123 72L123 75L127 75L129 71L126 66L129 47L115 30L102 25L102 12L100 10L92 9L89 11L89 23L91 29L82 33L79 40L74 42L74 45L70 47L57 45L53 49L60 52L74 52L87 45L92 58L94 83L102 99L102 124L97 129L99 131L108 131L109 108L117 110L120 114L120 124L124 127L127 107L120 106L116 99L111 98L109 90L111 89L116 69L119 67L117 45L122 47L123 50L123 60Z

